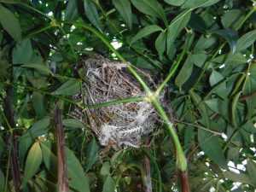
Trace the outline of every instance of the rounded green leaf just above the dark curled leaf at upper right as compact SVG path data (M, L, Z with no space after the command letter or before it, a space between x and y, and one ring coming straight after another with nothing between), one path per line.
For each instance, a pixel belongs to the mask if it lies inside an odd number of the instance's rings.
M240 21L240 18L242 17L242 12L240 9L232 9L227 11L223 17L221 18L221 23L224 26L224 28L235 28L235 24L237 21Z

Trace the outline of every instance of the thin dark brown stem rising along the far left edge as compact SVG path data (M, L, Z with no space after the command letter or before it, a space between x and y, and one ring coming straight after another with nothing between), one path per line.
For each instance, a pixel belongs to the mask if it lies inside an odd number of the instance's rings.
M11 150L11 175L13 177L15 192L20 191L20 169L17 156L17 143L15 140L15 119L12 112L12 95L13 87L9 86L6 91L6 98L4 103L4 111L8 119L9 126L13 129L12 133L6 135L5 143L9 145Z

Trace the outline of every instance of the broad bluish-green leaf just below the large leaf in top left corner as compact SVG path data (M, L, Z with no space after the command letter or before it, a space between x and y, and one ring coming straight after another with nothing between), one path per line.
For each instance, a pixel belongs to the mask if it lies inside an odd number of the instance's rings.
M30 38L26 38L21 43L16 44L12 52L13 64L24 64L32 58L32 44Z

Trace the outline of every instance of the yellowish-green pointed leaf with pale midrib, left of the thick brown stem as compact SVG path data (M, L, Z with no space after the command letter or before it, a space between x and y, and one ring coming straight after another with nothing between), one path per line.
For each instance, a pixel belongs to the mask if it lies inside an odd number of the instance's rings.
M38 168L43 160L42 150L38 142L32 145L32 148L29 150L26 158L26 166L24 171L24 177L20 188L23 188L26 183L34 176L38 171Z

